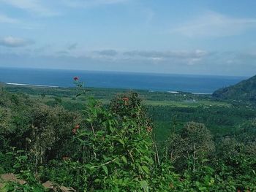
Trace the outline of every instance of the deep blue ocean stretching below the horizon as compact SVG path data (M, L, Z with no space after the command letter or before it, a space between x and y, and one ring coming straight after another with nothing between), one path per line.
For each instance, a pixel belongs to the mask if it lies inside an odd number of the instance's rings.
M0 82L73 87L78 76L87 87L126 88L148 91L213 93L247 77L190 74L146 74L132 72L89 72L59 69L0 68Z

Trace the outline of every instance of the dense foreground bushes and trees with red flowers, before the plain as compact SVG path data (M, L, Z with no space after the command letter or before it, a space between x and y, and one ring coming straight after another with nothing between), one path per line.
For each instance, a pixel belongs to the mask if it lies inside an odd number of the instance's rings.
M173 120L162 145L155 132L137 93L69 112L3 89L0 173L26 183L0 191L46 191L48 180L75 191L256 191L255 120L218 139L202 120Z

